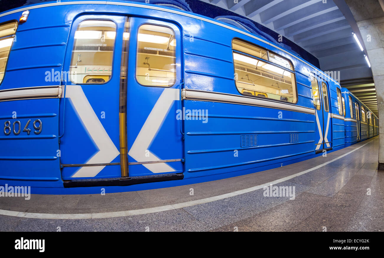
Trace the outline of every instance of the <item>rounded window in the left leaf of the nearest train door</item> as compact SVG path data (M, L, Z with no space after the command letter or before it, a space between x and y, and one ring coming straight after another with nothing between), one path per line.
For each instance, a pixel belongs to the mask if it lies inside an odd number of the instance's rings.
M84 20L74 33L71 81L102 84L112 75L116 24L109 20Z

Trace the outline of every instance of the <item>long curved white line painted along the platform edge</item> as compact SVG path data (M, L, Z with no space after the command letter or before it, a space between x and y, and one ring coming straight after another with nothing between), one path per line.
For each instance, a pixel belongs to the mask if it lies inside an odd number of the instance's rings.
M283 177L281 179L277 179L275 181L271 181L262 185L256 185L253 187L249 187L243 190L238 190L235 192L230 192L227 194L217 195L209 198L194 200L190 202L182 202L182 203L175 203L172 205L164 205L159 207L153 207L153 208L144 208L139 210L126 210L121 212L100 212L100 213L75 213L75 214L53 214L53 213L32 213L32 212L17 212L12 210L1 210L0 209L0 215L7 215L7 216L13 216L13 217L22 217L22 218L40 218L40 219L59 219L59 220L75 220L75 219L86 219L86 218L114 218L114 217L126 217L126 216L132 216L132 215L141 215L141 214L148 214L148 213L155 213L155 212L164 212L167 210L175 210L179 208L189 207L197 204L202 203L208 203L208 202L214 202L217 200L222 200L225 198L233 197L240 194L245 194L248 192L252 192L255 190L263 189L265 186L278 184L281 182L284 182L286 180L292 179L294 177L297 177L299 175L306 174L308 172L311 172L315 169L318 169L320 167L323 167L325 165L328 165L331 162L334 162L338 159L341 159L342 157L345 157L348 154L351 154L354 151L357 151L358 149L366 146L370 142L374 141L376 139L372 139L371 141L367 142L366 144L363 144L360 147L357 147L356 149L353 149L352 151L347 152L346 154L340 155L337 158L334 158L332 160L329 160L327 162L324 162L323 164L317 165L316 167L312 167L310 169L304 170L302 172L290 175L288 177Z

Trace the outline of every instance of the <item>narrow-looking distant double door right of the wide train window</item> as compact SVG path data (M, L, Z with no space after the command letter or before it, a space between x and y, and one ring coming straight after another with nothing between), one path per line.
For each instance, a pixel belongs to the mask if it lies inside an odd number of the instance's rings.
M311 77L312 95L316 118L315 152L332 149L332 119L329 105L329 87L319 77Z

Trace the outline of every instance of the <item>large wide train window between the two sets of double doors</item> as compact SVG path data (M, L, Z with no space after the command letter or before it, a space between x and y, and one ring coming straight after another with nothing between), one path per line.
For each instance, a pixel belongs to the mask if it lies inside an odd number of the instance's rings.
M232 41L232 50L241 94L297 103L295 73L288 59L239 39Z

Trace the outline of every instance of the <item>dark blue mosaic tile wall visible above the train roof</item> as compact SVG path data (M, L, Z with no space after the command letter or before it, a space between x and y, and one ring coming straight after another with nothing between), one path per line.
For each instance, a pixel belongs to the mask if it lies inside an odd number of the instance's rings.
M296 45L292 41L283 37L282 42L278 42L279 34L269 28L254 22L248 18L245 18L237 13L225 10L221 7L212 5L210 3L205 3L200 0L149 0L151 4L162 5L170 8L176 8L185 10L188 12L197 13L199 15L204 15L209 18L217 19L218 17L229 17L235 22L240 22L242 25L248 28L252 33L261 36L262 38L271 41L276 45L280 45L282 48L296 53L296 55L301 56L304 60L310 62L316 67L320 67L319 60L311 55L309 52ZM255 0L258 1L258 0ZM44 2L56 2L56 0L0 0L0 12L6 10L21 7L23 5L29 5L33 3L44 3ZM145 0L131 0L131 2L145 2ZM236 19L236 17L238 17Z

